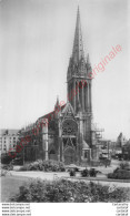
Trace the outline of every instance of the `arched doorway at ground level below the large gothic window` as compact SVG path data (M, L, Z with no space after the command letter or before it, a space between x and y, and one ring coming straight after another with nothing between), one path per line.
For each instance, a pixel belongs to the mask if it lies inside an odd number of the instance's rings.
M76 152L72 147L67 147L64 150L64 164L76 163Z

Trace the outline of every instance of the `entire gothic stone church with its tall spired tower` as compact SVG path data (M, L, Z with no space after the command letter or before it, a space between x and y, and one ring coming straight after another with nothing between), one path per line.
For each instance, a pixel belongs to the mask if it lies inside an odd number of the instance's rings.
M30 136L24 145L27 161L56 160L66 164L81 164L96 158L96 132L92 128L92 71L89 55L84 58L80 12L77 23L72 54L67 72L67 103L21 130L20 138ZM44 124L43 124L44 122ZM47 124L48 122L48 124Z

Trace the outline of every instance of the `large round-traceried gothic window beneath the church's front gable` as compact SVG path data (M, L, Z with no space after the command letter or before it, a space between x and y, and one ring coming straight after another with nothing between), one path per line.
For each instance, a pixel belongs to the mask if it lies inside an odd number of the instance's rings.
M66 120L62 124L62 135L77 135L78 125L73 120Z

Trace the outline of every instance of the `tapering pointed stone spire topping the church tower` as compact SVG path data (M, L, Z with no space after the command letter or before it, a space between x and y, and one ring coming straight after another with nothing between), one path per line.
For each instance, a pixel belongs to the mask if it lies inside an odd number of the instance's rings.
M83 53L83 43L82 43L82 33L81 33L81 23L80 23L80 11L78 7L72 59L74 63L78 63L82 58L84 58L84 53Z

